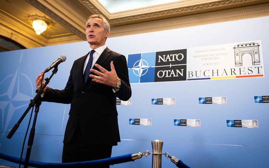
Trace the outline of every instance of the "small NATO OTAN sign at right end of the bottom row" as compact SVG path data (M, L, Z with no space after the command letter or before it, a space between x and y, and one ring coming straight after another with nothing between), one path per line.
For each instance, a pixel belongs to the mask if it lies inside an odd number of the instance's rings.
M258 128L258 120L241 119L241 120L226 120L227 127L245 127Z

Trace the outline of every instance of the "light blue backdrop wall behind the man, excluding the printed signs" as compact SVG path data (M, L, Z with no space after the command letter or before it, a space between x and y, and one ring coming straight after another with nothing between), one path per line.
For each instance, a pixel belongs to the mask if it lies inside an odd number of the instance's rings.
M164 141L163 152L190 167L268 167L269 104L254 103L254 96L269 95L268 29L269 17L259 17L108 38L106 46L125 56L261 40L264 66L264 77L257 78L132 84L132 105L117 106L121 143L113 148L112 156L152 151L151 140L160 139ZM59 55L67 55L49 83L51 88L63 89L73 61L88 51L85 41L0 53L1 152L20 156L30 113L12 139L6 136L35 95L35 78L40 71ZM226 96L227 104L198 104L199 97L219 96ZM176 98L176 105L151 105L152 98ZM69 108L69 104L42 103L31 160L61 162ZM152 119L152 125L129 125L129 118ZM201 127L174 127L174 119L200 119ZM226 119L257 119L259 128L228 128ZM100 124L109 127L108 121ZM111 167L151 167L151 158ZM0 164L17 166L4 160ZM162 164L176 167L165 157Z

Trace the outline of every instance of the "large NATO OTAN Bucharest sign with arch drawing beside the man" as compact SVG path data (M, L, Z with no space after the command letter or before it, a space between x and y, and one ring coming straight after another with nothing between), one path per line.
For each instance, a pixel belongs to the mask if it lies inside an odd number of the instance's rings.
M130 83L263 77L261 41L128 54Z

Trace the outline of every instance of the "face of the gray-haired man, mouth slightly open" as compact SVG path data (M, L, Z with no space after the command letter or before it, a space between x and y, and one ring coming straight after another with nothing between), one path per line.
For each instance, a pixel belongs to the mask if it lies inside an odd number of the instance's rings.
M86 37L90 45L102 46L105 44L109 31L105 31L103 21L99 18L90 18L86 23Z

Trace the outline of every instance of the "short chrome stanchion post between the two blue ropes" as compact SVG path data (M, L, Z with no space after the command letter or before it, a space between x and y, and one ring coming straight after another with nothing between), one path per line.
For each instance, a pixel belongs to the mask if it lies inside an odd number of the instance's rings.
M162 167L162 149L163 149L163 141L161 140L153 140L152 144L152 168L161 168ZM158 153L158 154L154 154Z

